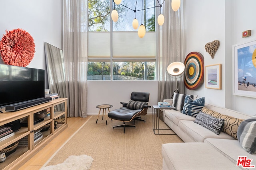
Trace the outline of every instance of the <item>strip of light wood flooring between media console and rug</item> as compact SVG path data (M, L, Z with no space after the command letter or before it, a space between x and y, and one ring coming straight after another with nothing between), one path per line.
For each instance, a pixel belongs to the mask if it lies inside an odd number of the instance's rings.
M45 162L72 136L91 116L86 118L68 117L68 128L36 153L19 170L39 170Z

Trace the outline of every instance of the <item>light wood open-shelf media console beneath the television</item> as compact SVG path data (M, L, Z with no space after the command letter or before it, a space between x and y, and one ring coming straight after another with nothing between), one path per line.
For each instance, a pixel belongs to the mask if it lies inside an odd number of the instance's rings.
M39 113L45 114L44 119L34 122ZM37 106L28 107L14 112L0 113L0 126L16 120L26 120L14 135L0 141L0 150L19 142L16 151L0 163L0 169L18 169L42 149L56 135L68 127L67 98L58 98ZM21 121L22 122L22 121Z

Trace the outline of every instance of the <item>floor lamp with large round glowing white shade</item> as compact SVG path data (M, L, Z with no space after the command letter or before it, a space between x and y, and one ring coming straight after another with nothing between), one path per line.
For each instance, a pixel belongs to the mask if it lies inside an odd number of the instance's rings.
M174 77L176 80L176 89L174 90L174 92L176 92L176 93L180 93L179 89L178 89L178 78L181 78L184 75L183 74L184 70L185 70L185 65L179 61L173 62L173 63L169 64L167 67L168 74L170 76ZM173 97L173 94L172 94L172 97ZM171 99L172 99L172 97L171 97Z

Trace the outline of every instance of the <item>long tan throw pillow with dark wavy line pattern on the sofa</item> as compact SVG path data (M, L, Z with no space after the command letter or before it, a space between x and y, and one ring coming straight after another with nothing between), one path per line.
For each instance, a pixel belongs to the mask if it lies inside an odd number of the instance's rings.
M207 109L206 107L202 108L202 112L204 112L208 115L211 115L213 117L219 118L219 119L224 119L224 126L223 126L222 131L227 133L228 135L234 137L235 139L237 139L236 133L237 133L238 126L240 125L240 123L242 121L244 121L244 119L238 119L238 118L235 118L232 116L223 115L216 111Z

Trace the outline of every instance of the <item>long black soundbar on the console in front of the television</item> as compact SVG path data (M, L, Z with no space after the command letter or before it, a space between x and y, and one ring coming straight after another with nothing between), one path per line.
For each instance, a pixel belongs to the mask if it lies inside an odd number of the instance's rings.
M18 110L25 109L28 107L36 106L38 104L46 103L51 100L52 100L52 98L39 98L39 99L29 100L29 101L21 102L21 103L17 103L17 104L11 104L11 105L5 107L5 111L18 111Z

